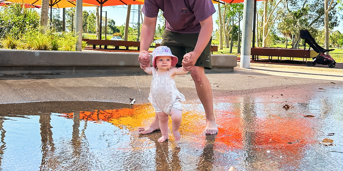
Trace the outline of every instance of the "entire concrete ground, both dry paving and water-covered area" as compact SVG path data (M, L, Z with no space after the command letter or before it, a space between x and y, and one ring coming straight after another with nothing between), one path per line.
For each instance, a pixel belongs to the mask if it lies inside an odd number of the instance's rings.
M149 75L0 76L0 170L343 170L340 72L235 69L207 75L217 135L190 75L176 78L182 138L165 143L137 132L154 116Z

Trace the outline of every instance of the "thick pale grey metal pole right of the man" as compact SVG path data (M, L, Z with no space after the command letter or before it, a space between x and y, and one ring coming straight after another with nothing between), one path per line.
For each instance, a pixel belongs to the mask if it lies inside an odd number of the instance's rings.
M251 54L251 32L253 20L254 0L245 0L243 8L243 31L242 31L242 53L240 55L240 67L250 68Z

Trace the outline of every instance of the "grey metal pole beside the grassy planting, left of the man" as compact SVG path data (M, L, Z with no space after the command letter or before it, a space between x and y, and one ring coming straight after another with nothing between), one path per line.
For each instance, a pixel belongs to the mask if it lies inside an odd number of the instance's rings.
M75 44L75 50L82 50L82 0L76 1L75 9L75 34L78 36L78 41Z

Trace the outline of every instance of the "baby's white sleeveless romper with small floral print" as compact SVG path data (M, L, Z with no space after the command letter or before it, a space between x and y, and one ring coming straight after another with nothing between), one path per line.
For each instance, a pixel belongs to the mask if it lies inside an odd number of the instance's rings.
M180 101L186 101L185 96L176 88L175 80L169 77L168 71L163 76L158 76L156 71L157 68L152 72L148 99L156 112L163 111L170 116L170 110L182 110Z

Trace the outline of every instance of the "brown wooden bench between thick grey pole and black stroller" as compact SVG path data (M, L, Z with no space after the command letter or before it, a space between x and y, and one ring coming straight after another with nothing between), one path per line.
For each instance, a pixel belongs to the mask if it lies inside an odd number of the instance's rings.
M282 61L282 57L291 58L312 58L318 55L314 50L304 50L304 49L284 49L284 48L251 48L251 55L255 55L258 60L258 56L268 56L268 59L272 59L273 56L277 56L277 60Z

